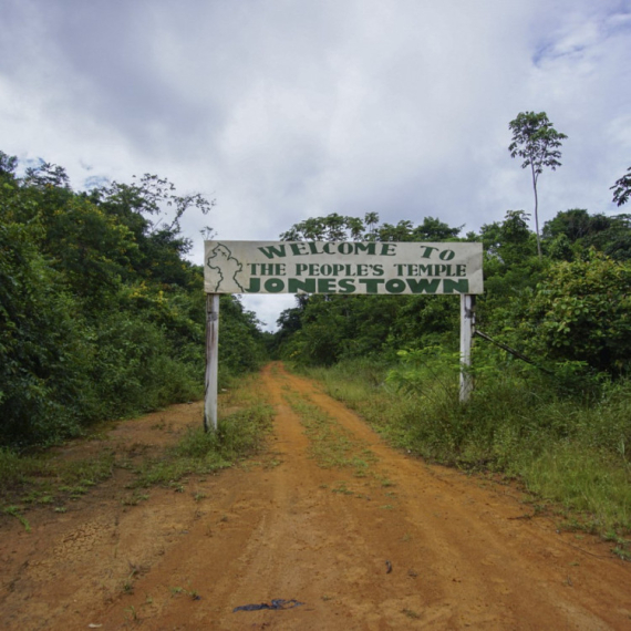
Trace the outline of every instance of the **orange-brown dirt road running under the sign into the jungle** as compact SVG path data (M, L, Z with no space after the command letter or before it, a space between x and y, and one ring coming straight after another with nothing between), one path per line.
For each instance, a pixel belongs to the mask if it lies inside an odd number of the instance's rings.
M0 628L631 629L631 563L610 546L529 518L509 487L389 448L281 366L263 380L277 408L265 458L135 506L117 474L66 514L30 514L31 532L4 519ZM350 445L345 461L306 435L300 401ZM108 439L155 446L165 423L177 434L200 410ZM234 611L272 599L302 604Z

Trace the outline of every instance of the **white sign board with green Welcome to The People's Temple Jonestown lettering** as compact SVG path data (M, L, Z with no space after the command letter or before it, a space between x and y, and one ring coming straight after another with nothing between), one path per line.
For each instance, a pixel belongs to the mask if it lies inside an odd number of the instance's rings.
M483 292L482 244L205 241L206 293Z

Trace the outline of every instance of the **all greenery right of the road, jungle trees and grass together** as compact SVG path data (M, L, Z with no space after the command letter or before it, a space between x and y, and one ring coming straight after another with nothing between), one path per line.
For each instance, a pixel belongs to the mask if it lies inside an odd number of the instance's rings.
M631 217L561 211L544 226L541 257L521 210L461 231L432 217L415 226L331 215L281 238L480 241L476 329L504 348L475 338L466 405L454 296L298 297L279 319L276 352L392 444L516 476L539 498L536 510L560 503L571 527L631 558L620 538L631 529Z

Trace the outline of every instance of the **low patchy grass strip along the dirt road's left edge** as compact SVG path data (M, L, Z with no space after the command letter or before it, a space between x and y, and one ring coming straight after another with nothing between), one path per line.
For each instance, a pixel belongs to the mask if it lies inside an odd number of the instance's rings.
M126 469L132 476L127 488L136 490L122 500L132 506L148 498L139 488L167 485L177 490L188 475L232 466L263 447L271 431L273 408L266 402L257 375L231 385L219 397L216 433L205 433L199 423L159 455L147 455L139 448L131 458L128 453L116 452L106 444L103 427L95 431L105 441L104 448L85 459L68 459L51 449L18 454L0 448L0 514L15 517L27 528L23 515L29 508L50 506L55 513L65 513L69 501L87 494L116 469Z

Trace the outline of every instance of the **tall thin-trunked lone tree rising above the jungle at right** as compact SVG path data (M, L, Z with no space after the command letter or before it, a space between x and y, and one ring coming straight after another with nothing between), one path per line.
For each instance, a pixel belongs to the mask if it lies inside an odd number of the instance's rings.
M561 166L559 158L561 141L566 134L557 132L548 120L546 112L521 112L517 118L510 121L508 127L513 132L513 142L508 146L510 157L524 158L521 168L530 167L532 174L532 190L535 192L535 228L537 235L537 254L541 258L541 237L539 235L539 199L537 196L537 182L548 166L556 170Z

